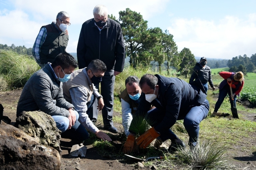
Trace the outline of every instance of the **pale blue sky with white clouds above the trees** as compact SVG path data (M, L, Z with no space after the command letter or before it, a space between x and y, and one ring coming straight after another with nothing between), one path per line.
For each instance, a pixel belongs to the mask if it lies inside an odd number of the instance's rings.
M148 27L168 29L179 51L186 47L197 57L256 53L256 0L0 0L0 44L32 47L40 27L66 11L72 23L67 51L74 53L82 23L98 4L117 18L126 8L139 12Z

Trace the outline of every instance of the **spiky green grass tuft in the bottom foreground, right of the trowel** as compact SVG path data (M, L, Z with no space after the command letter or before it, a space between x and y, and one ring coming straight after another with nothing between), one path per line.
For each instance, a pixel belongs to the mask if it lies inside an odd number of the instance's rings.
M178 149L178 159L174 162L192 170L224 170L232 169L225 152L228 148L220 143L198 141L193 149Z

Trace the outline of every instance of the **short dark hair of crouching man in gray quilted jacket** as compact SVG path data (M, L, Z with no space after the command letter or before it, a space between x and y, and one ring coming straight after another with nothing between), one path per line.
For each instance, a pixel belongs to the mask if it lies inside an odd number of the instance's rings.
M78 63L71 54L60 53L52 62L52 68L55 68L56 66L61 66L61 68L64 70L65 68L70 68L70 66L76 68L78 67Z

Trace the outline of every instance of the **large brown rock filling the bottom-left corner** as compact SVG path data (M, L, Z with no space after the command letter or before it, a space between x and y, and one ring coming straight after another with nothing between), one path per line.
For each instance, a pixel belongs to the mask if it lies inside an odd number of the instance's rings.
M60 170L60 154L22 130L0 123L1 170Z

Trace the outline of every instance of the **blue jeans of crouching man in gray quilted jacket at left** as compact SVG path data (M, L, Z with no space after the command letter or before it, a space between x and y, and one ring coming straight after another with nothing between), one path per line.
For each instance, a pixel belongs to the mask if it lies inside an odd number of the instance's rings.
M68 129L69 126L69 119L65 116L55 115L52 116L56 123L56 127L62 132L61 137L66 139L72 139L75 141L84 141L89 137L88 132L86 129L77 121L78 120L78 113L74 111L76 114L76 123ZM67 130L68 129L68 130Z

